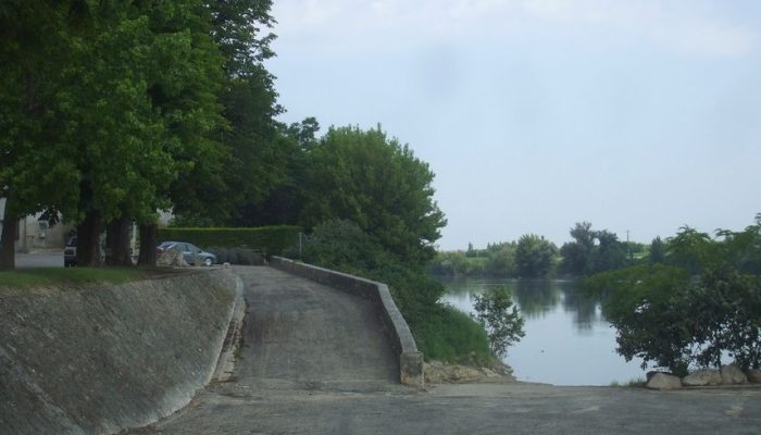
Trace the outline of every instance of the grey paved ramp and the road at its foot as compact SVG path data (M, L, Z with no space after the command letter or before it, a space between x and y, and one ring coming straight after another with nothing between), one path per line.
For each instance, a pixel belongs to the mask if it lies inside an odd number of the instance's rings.
M761 390L677 393L396 381L366 301L239 268L250 312L230 382L136 434L759 434Z

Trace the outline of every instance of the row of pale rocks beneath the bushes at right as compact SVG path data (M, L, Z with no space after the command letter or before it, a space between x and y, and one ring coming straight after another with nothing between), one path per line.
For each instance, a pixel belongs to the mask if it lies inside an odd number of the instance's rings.
M650 389L678 389L749 383L761 383L761 371L751 370L745 373L737 365L722 365L721 370L698 370L682 378L669 373L652 373L645 386Z

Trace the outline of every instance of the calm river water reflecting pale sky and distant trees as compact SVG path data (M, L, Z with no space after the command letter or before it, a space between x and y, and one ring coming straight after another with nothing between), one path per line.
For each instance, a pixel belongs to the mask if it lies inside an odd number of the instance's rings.
M554 385L609 385L644 378L640 360L615 353L615 330L602 315L599 300L584 295L573 281L445 281L445 300L472 313L472 295L507 286L526 319L526 336L508 350L504 362L519 381Z

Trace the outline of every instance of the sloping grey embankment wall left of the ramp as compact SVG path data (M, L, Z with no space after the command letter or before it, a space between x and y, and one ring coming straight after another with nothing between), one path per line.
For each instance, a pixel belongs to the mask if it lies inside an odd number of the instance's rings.
M241 295L225 270L0 290L0 433L111 434L175 412L210 381Z

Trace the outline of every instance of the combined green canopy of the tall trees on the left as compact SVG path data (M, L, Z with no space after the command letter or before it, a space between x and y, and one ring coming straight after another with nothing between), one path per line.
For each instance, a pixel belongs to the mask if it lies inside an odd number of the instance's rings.
M240 202L266 195L289 153L263 66L274 55L271 7L3 3L0 197L9 220L62 214L79 224L85 256L112 220L153 223L157 209L172 207L229 222Z

